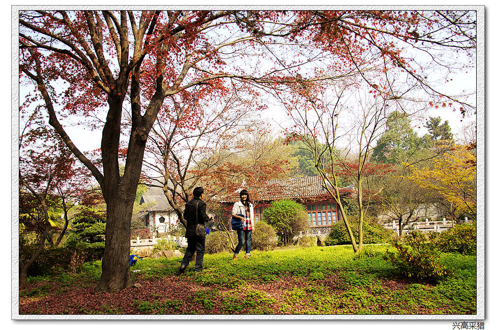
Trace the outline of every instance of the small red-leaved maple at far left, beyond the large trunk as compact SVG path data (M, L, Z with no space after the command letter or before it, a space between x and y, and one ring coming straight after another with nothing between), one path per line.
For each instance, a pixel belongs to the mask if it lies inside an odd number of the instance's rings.
M89 173L76 163L64 142L39 119L36 111L28 116L19 137L19 220L23 232L36 233L38 239L33 255L19 257L19 285L27 284L27 271L45 244L61 243L69 225L68 212L90 182ZM57 210L62 212L62 224L54 219L61 218ZM56 239L53 234L58 235Z

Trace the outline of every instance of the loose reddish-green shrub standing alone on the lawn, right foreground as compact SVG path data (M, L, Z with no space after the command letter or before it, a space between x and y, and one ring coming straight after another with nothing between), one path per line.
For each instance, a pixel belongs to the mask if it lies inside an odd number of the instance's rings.
M403 244L393 242L397 254L387 251L389 259L401 276L437 281L448 274L448 269L439 263L441 252L431 244L420 231L410 232L403 238Z

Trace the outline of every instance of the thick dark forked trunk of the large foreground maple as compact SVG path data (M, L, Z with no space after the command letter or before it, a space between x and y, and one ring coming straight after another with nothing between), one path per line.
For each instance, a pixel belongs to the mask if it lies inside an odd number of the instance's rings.
M104 177L100 184L107 204L107 222L102 276L97 290L116 292L134 284L129 264L131 217L147 135L138 136L139 131L133 125L124 174L121 176L118 147L122 99L109 98L108 103L109 113L102 133Z

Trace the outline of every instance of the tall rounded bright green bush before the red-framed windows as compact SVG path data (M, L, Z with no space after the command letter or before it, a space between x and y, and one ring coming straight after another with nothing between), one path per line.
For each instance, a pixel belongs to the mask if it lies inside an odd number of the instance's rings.
M264 211L264 220L274 227L282 245L293 242L295 233L308 227L308 214L305 206L293 200L274 201Z

